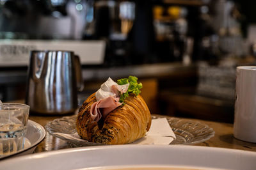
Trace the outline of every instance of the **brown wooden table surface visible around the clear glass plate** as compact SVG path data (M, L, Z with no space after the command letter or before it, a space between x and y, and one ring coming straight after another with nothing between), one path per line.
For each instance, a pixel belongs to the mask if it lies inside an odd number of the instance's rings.
M61 118L61 116L29 116L29 120L40 123L40 125L45 126L49 121L56 118ZM238 150L256 151L256 143L247 143L240 141L233 137L233 124L231 123L219 123L214 121L204 121L195 120L200 123L205 123L209 127L213 128L215 131L215 136L205 141L204 143L195 144L196 146L211 146L218 148L232 148ZM35 153L42 151L59 150L64 148L69 148L66 141L53 137L50 134L46 134L44 141L40 143L36 149Z

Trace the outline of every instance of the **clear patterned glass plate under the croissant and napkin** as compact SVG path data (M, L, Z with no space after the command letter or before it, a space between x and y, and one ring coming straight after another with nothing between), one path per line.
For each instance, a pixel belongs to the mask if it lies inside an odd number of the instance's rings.
M186 120L181 118L171 118L164 116L152 116L152 119L157 118L166 118L170 127L172 127L173 132L176 135L176 139L170 144L196 144L207 141L211 137L214 137L214 130L204 123L198 121ZM74 139L66 139L60 135L54 133L63 133L63 134L75 134L76 130L76 115L74 116L65 116L60 119L50 121L45 129L49 134L54 135L68 141L73 147L77 146L95 146L102 145L97 143L90 143L86 140L77 141Z

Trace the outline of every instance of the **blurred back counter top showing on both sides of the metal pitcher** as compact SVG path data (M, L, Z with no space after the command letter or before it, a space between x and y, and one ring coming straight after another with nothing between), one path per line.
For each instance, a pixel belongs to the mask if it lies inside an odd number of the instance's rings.
M176 63L155 63L147 65L129 66L83 66L82 75L84 81L99 81L112 77L113 79L135 75L136 77L170 77L173 75L195 75L196 65L183 65ZM0 70L0 84L25 83L26 68L8 68Z

